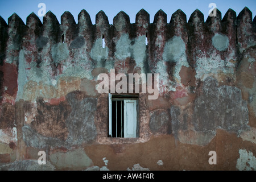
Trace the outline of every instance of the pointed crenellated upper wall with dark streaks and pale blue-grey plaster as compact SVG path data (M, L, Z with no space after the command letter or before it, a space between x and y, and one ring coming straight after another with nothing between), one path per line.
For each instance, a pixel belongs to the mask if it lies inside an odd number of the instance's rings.
M95 80L90 73L96 68L115 68L124 73L162 72L160 80L168 88L181 84L181 67L194 69L196 79L219 72L234 74L242 52L256 43L255 18L253 21L247 7L238 16L232 9L224 18L221 16L216 9L216 16L204 22L204 15L195 10L187 20L183 11L177 10L167 22L167 14L159 10L150 23L150 15L142 9L135 23L120 11L109 24L108 16L100 11L96 24L92 24L85 10L79 14L78 23L68 11L61 15L60 23L48 11L43 23L31 13L25 24L14 13L8 24L0 18L1 71L11 74L3 74L2 85L13 82L2 90L16 96L19 72L24 73L26 83L44 80L50 85L52 79L57 81L74 72ZM163 89L162 93L168 91Z

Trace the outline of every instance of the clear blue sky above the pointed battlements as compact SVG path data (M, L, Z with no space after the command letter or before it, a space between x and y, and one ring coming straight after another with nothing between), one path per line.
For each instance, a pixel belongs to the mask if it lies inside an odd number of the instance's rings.
M23 22L26 23L26 18L30 13L34 12L38 14L40 8L39 3L46 4L46 12L51 10L56 15L60 22L60 16L65 12L69 11L73 14L76 22L77 16L82 9L85 9L92 19L92 23L95 23L95 16L98 11L103 10L109 18L109 23L113 23L113 18L119 13L119 11L125 11L130 16L131 23L135 22L135 16L139 10L144 9L150 14L150 22L154 20L154 15L160 9L167 14L167 21L170 22L171 15L176 10L181 9L187 15L187 21L190 15L196 9L199 9L203 14L205 20L208 17L210 10L209 3L215 3L217 9L221 11L222 18L229 8L236 11L237 15L240 11L247 6L253 13L253 18L256 14L256 1L255 0L233 0L233 1L219 1L219 0L72 0L72 1L59 1L59 0L0 0L0 16L8 21L8 18L16 13L22 18ZM43 22L43 17L39 17Z

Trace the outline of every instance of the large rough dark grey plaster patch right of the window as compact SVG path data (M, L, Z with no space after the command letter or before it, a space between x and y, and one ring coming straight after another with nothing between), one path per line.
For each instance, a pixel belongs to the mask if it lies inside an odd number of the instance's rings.
M204 81L203 92L195 100L193 123L196 131L221 127L239 135L248 129L248 109L240 89L227 85L218 87L218 81L208 77Z

